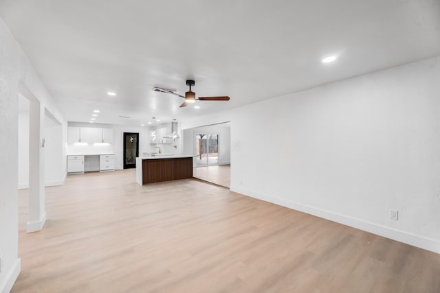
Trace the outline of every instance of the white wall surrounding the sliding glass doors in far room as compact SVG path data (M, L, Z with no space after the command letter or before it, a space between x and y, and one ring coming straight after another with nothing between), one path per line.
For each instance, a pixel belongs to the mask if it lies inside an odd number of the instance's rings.
M230 164L230 126L203 126L184 130L183 154L195 156L195 134L219 134L219 165Z

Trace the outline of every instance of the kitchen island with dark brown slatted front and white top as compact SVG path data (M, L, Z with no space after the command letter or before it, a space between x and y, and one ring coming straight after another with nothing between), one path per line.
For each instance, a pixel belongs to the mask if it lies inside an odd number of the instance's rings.
M155 155L136 158L139 185L192 178L192 156Z

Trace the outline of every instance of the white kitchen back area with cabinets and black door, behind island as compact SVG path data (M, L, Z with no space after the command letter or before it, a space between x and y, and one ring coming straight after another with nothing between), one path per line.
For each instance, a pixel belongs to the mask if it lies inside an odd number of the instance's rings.
M129 143L131 147L127 149L124 148L127 146L124 134L137 134L131 137L134 143ZM179 152L177 122L151 127L75 122L67 126L67 174L134 168L138 156L176 155Z

